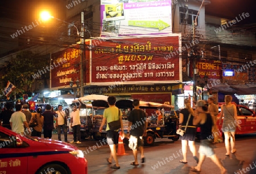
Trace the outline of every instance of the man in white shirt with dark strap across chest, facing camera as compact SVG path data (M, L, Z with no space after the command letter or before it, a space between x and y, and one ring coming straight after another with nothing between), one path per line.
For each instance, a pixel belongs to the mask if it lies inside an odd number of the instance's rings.
M61 129L64 132L64 140L66 143L69 143L68 141L68 130L67 130L67 125L65 125L64 119L67 119L65 111L62 110L62 105L58 105L58 110L56 111L57 114L57 122L56 122L56 127L58 130L58 140L61 141Z

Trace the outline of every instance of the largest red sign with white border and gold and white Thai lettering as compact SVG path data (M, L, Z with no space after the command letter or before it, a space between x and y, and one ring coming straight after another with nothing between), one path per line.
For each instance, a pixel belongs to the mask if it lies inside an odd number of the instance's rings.
M92 40L91 44L91 84L168 84L182 79L178 34Z

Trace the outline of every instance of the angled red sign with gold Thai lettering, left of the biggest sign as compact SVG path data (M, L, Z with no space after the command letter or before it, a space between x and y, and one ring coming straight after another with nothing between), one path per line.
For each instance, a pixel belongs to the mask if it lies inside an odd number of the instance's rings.
M80 81L80 56L80 49L77 48L68 48L52 54L51 88L70 88L71 80Z

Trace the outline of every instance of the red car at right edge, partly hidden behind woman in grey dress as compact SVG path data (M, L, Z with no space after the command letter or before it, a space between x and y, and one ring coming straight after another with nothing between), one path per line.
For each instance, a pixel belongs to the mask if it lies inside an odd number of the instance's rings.
M224 103L218 103L219 106L219 111L221 105ZM256 113L255 111L249 109L246 106L243 105L237 105L236 103L233 103L234 105L237 106L237 117L238 117L238 122L240 123L241 130L236 129L236 134L250 134L256 132ZM225 115L224 115L225 117ZM216 125L218 126L219 130L221 130L221 126L219 125L220 122L220 113L217 115L217 123Z

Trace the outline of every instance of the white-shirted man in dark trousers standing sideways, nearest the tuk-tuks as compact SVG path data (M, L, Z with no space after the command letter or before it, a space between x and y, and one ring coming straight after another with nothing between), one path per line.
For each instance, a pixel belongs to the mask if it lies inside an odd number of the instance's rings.
M72 140L71 143L81 143L81 132L80 132L80 127L81 127L81 122L80 122L80 109L77 109L77 106L75 104L71 105L72 107L72 113L70 116L70 122L71 122L71 127L73 129L73 136L74 139Z

